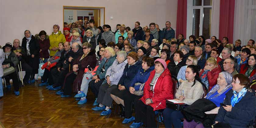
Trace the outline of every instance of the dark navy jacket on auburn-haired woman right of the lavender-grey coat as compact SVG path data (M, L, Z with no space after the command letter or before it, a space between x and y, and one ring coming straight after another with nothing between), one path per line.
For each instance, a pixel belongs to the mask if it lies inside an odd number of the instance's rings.
M128 63L123 70L123 76L120 78L117 86L119 84L124 85L127 90L129 90L130 82L133 80L134 76L137 74L138 70L141 68L141 62L137 61L134 65L128 68Z

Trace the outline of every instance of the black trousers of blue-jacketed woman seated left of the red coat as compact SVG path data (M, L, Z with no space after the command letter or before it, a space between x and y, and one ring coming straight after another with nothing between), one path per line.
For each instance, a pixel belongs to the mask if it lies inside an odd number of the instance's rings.
M135 113L137 109L137 101L142 97L142 96L137 96L134 94L131 94L130 91L125 90L124 94L124 109L125 109L125 117L131 117L132 116L132 107L134 106ZM132 106L132 101L133 101L133 106ZM135 117L136 121L136 117ZM140 120L137 120L137 122L140 122Z

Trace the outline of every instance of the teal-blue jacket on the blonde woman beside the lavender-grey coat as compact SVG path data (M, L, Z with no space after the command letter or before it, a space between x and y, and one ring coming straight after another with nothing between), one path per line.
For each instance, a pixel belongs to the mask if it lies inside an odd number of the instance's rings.
M101 64L98 66L97 70L96 70L96 74L98 76L99 79L104 79L105 78L105 75L106 75L106 72L108 70L108 68L110 66L112 66L113 62L115 61L116 59L116 55L108 58L108 62L106 62L106 58L104 57L101 61ZM106 62L106 63L105 63ZM102 70L102 68L104 67L105 70ZM102 72L101 72L102 70ZM94 75L94 76L95 76Z

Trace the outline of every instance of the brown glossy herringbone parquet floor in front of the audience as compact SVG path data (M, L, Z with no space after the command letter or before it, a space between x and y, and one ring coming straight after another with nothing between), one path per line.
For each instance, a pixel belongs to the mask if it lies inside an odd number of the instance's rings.
M86 104L77 105L75 98L60 98L56 91L37 85L20 88L20 96L15 96L12 90L4 93L0 100L0 122L5 128L129 127L131 124L122 124L123 118L114 114L115 108L111 108L109 116L100 116L101 112L91 110L94 102L91 92ZM159 124L164 127L163 123Z

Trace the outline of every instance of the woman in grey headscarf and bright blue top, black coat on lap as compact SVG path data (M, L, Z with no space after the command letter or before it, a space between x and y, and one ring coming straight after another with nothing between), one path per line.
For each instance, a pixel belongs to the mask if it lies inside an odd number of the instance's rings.
M220 103L224 101L226 93L232 88L231 82L232 75L230 73L219 73L217 84L212 90L204 98L198 99L192 105L183 109L183 115L185 116L184 127L210 127L215 115L208 114L218 114ZM198 113L193 112L198 108L200 108ZM204 118L200 118L199 114L204 115Z

